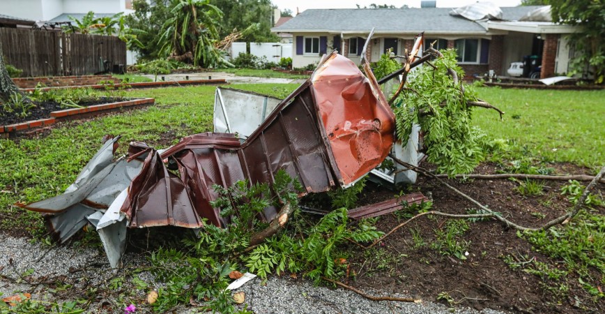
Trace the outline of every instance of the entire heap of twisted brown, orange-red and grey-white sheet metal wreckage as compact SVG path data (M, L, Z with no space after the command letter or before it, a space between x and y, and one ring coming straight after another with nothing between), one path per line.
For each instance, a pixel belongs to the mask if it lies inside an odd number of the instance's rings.
M223 94L231 100L233 93L218 90L215 125L246 135L243 142L231 133L187 136L164 151L132 142L128 156L112 162L119 137L111 138L66 193L20 206L45 213L61 242L91 223L117 267L126 227L199 228L204 219L226 226L230 218L211 205L218 197L215 184L273 184L275 173L284 170L303 184L300 196L351 186L382 163L395 139L395 116L367 60L364 68L367 77L353 61L332 52L286 99L255 95L263 105L256 112L239 110L236 101L225 103ZM237 119L250 123L232 127L229 114L237 111L250 113L250 119ZM260 218L272 221L277 214L267 207Z

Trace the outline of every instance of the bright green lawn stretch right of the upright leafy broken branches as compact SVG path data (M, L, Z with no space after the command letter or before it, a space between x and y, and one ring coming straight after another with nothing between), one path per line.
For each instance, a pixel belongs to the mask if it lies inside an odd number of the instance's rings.
M605 164L605 90L478 89L506 114L477 108L473 121L491 138L510 140L545 160Z

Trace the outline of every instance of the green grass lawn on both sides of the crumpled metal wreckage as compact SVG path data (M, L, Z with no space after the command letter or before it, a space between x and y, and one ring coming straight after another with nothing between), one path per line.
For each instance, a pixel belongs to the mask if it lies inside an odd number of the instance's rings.
M297 84L234 84L284 98ZM116 91L118 92L118 91ZM140 140L158 148L179 138L212 130L214 86L169 87L127 91L126 96L153 97L156 105L74 121L39 139L0 140L0 227L40 232L40 215L13 207L52 197L69 186L100 147L106 133L122 135L118 154ZM605 156L605 91L479 90L480 96L507 112L504 121L491 110L476 110L475 123L489 137L510 139L536 156L596 167ZM515 118L517 117L518 118ZM556 149L556 151L554 150ZM35 223L31 223L31 221Z

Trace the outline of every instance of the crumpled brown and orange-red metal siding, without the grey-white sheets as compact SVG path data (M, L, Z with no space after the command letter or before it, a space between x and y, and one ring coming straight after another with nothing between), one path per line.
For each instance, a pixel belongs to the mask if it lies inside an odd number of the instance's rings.
M233 134L202 133L161 156L152 151L121 210L130 227L201 227L203 218L224 227L230 219L210 205L218 197L215 184L273 184L279 170L300 181L303 194L351 184L384 160L394 140L395 117L380 96L373 76L368 79L352 61L332 53L312 82L279 103L243 143ZM180 177L167 170L167 158L178 165ZM261 218L276 215L268 207Z

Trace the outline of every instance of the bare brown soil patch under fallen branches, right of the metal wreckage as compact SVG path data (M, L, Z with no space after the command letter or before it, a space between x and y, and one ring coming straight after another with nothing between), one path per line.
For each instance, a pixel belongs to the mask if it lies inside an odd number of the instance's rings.
M574 174L587 171L569 164L554 166ZM496 167L490 164L477 169L477 173L495 172ZM537 227L565 214L571 207L565 195L560 194L565 182L547 181L543 195L529 197L521 195L516 190L518 184L510 180L447 182L519 225ZM434 210L468 214L468 209L473 208L473 204L432 179L421 177L411 188L419 189L424 195L432 195ZM599 184L595 193L604 192L604 186ZM394 194L369 186L362 203L385 200ZM604 208L597 210L599 214L605 214ZM406 218L391 214L381 217L376 225L379 230L387 232L404 220ZM562 266L562 261L534 251L531 244L517 236L516 230L507 229L493 220L469 223L470 228L462 237L470 242L467 260L439 254L430 245L436 241L436 230L445 230L446 221L444 217L420 218L392 234L372 251L353 254L351 271L358 276L351 283L393 293L407 290L427 301L436 301L440 294L447 294L454 303L462 306L516 313L591 313L605 308L603 298L597 304L590 301L590 294L578 284L576 274L567 276L569 291L558 293L549 290L556 283L543 281L521 269L511 269L504 261L505 257L533 258L557 264L557 267ZM423 246L418 246L418 239L424 241ZM602 274L592 271L598 282ZM438 301L447 304L445 297ZM582 306L586 308L581 309Z

